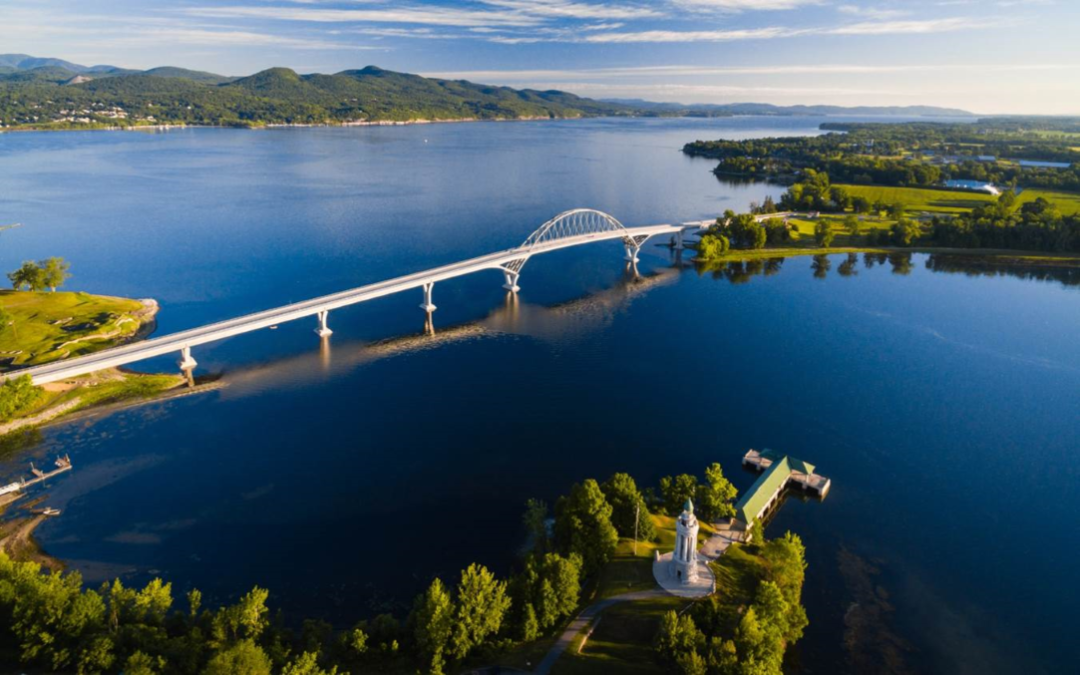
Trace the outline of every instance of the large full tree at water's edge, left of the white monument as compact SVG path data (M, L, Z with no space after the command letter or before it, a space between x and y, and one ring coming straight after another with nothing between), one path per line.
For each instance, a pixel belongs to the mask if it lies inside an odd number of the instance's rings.
M570 488L555 504L555 542L564 555L581 556L583 569L592 575L607 564L619 544L611 525L611 504L600 486L588 478Z

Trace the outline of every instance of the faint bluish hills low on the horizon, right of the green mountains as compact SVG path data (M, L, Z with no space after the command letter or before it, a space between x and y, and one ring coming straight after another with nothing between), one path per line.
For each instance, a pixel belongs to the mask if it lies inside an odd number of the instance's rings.
M894 116L894 117L976 117L975 113L959 108L937 106L826 106L797 105L778 106L767 103L733 104L680 104L644 100L642 98L603 98L605 103L631 106L657 112L716 116L728 114L777 114L777 116Z

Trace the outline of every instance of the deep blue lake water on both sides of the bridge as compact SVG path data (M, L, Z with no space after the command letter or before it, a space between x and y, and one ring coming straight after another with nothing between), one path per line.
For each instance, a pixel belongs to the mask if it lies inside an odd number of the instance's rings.
M0 267L64 256L72 288L157 298L171 333L514 246L571 207L745 210L779 188L681 145L820 122L4 134L0 221L25 227ZM635 278L617 242L583 246L530 260L516 302L495 272L437 284L433 337L417 292L333 312L328 347L314 320L205 346L226 389L49 428L0 482L71 455L38 536L94 583L161 575L207 604L257 583L348 623L473 561L508 571L529 497L712 461L745 489L742 454L772 447L834 482L769 526L807 543L807 672L1069 670L1078 287L922 255L673 262L647 245Z

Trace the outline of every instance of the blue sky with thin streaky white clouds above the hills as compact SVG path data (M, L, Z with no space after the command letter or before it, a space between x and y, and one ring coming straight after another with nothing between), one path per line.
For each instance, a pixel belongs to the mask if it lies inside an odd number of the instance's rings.
M1078 0L0 0L0 52L594 97L1080 113Z

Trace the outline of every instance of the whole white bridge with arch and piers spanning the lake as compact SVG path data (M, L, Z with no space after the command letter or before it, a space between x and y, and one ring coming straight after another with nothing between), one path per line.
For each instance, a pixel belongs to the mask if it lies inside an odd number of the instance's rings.
M598 241L621 240L626 252L626 260L637 262L642 245L652 237L669 234L675 238L675 247L683 247L683 237L687 232L700 231L713 225L714 220L683 222L680 225L649 225L627 228L612 216L593 210L575 208L555 216L541 225L525 242L515 248L487 254L460 262L444 265L422 272L406 274L381 281L359 288L342 291L332 295L285 305L228 321L180 330L172 335L141 340L123 347L106 349L85 356L65 359L31 368L9 373L4 379L29 375L35 384L55 382L80 375L86 375L105 368L114 368L137 361L144 361L163 354L177 353L180 369L189 377L192 369L199 365L192 356L192 348L207 342L224 340L235 335L251 333L260 328L269 328L279 324L315 316L320 337L327 337L333 332L328 325L329 312L350 305L374 300L395 293L420 288L423 301L420 309L428 313L435 311L432 295L435 284L448 279L464 276L483 270L502 272L503 287L511 292L521 291L517 285L522 269L528 260L537 255L551 253L569 246L580 246Z

